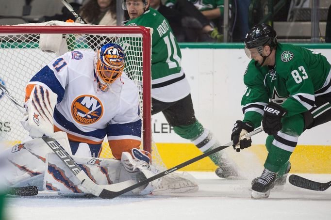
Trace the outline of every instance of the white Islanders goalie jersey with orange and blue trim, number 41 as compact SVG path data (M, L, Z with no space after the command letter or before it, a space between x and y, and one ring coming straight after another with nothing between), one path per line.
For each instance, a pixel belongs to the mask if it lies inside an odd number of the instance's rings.
M42 68L26 88L26 100L35 84L57 94L54 131L65 131L69 141L118 147L117 159L125 147L139 147L141 119L138 88L125 73L103 92L97 87L94 52L71 51ZM129 147L130 146L130 147ZM117 147L116 147L117 148ZM130 150L130 149L128 149Z

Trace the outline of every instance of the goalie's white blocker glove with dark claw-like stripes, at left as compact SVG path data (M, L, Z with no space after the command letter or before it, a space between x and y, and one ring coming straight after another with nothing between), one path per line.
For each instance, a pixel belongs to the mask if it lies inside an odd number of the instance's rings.
M29 86L29 85L28 85ZM27 94L28 95L28 94ZM54 134L53 112L57 103L57 94L39 85L34 85L25 106L28 109L21 124L32 138L41 138L44 134Z

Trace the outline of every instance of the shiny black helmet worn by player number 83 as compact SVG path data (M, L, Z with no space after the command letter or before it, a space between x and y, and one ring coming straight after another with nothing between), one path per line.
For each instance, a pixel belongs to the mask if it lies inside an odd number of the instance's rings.
M248 49L257 48L261 54L265 45L270 46L271 50L277 46L277 34L271 26L258 24L248 31L244 42Z

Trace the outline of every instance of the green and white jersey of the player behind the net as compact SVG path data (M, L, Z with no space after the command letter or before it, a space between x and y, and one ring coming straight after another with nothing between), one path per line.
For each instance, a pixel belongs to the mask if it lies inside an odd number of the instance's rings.
M126 23L126 26L153 29L152 97L162 102L174 102L190 94L190 85L181 66L181 49L165 17L149 8L143 15Z

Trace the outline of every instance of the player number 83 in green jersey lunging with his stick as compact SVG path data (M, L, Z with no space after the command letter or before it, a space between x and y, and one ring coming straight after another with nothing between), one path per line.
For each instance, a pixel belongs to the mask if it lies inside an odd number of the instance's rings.
M275 185L286 183L302 132L331 120L331 66L319 53L278 43L266 24L248 32L245 52L252 60L244 74L244 119L234 124L231 139L238 152L249 147L244 135L262 121L268 156L262 175L252 181L252 198L267 198Z

